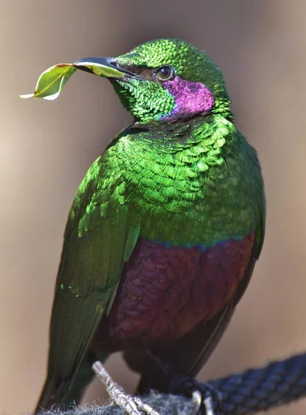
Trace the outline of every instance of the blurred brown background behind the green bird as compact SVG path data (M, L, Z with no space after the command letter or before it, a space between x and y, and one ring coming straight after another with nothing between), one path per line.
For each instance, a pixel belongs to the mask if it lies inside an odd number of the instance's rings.
M306 2L1 0L0 413L31 412L66 216L86 169L130 120L106 80L76 73L59 100L19 100L52 64L119 55L158 37L193 42L227 80L265 176L265 246L247 294L200 378L306 349ZM137 376L118 356L111 374ZM87 399L101 394L90 387ZM103 392L102 392L103 393ZM304 414L306 400L274 413Z

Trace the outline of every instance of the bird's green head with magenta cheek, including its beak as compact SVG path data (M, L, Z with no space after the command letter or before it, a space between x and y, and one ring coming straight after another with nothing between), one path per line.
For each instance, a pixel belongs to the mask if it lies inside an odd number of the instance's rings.
M75 62L84 71L111 80L135 120L173 121L221 113L232 118L222 72L202 50L178 39L147 42L119 57L88 57Z

